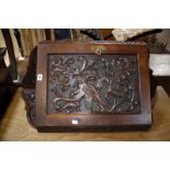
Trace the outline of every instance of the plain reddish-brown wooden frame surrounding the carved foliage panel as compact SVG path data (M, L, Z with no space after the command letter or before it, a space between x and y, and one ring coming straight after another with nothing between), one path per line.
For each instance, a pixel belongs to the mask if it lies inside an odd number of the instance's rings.
M92 46L105 46L102 54L136 54L139 63L139 95L140 114L128 115L78 115L78 114L47 114L47 56L48 54L60 53L89 53L94 54ZM38 131L43 128L73 128L81 127L115 127L115 126L150 126L152 122L149 89L148 53L145 44L114 44L114 43L44 43L39 44L37 50L37 73L43 75L42 81L36 81L35 113ZM78 120L79 124L72 124Z

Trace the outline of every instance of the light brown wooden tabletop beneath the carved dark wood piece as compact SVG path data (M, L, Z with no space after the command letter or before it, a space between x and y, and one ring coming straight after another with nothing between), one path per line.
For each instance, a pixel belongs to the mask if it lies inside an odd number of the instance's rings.
M170 98L158 87L154 125L146 132L114 133L37 133L26 120L25 104L19 88L0 123L0 140L170 140Z

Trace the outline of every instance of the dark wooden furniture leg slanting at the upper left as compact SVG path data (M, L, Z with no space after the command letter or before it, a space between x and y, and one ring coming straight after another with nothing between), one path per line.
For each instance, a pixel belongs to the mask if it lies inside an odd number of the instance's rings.
M11 73L13 82L15 82L19 79L18 78L18 67L16 67L16 59L15 59L15 55L14 55L12 38L10 35L10 30L2 29L2 35L4 37L4 42L5 42L7 49L9 53L9 58L10 58L10 73Z

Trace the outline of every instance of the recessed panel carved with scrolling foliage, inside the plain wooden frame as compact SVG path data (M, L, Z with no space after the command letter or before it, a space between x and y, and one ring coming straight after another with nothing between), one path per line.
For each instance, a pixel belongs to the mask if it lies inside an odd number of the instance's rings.
M136 55L48 55L47 113L140 112Z

